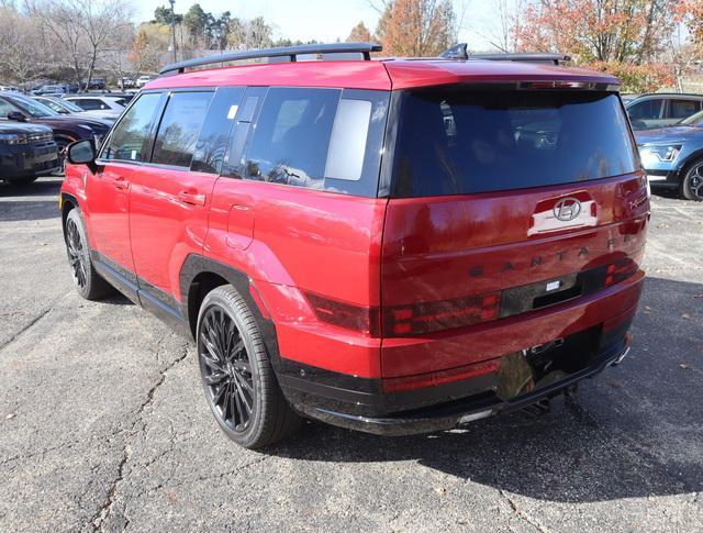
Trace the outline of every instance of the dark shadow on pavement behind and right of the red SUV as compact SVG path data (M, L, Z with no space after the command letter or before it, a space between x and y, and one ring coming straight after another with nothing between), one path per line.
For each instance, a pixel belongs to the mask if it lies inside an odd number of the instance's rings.
M701 284L649 278L633 356L583 382L574 399L555 400L548 414L512 413L461 431L395 438L312 422L266 453L322 462L414 460L565 502L698 492L703 409L691 392L703 385L703 365L694 363L703 362L701 295ZM680 366L687 357L694 359L688 370Z

